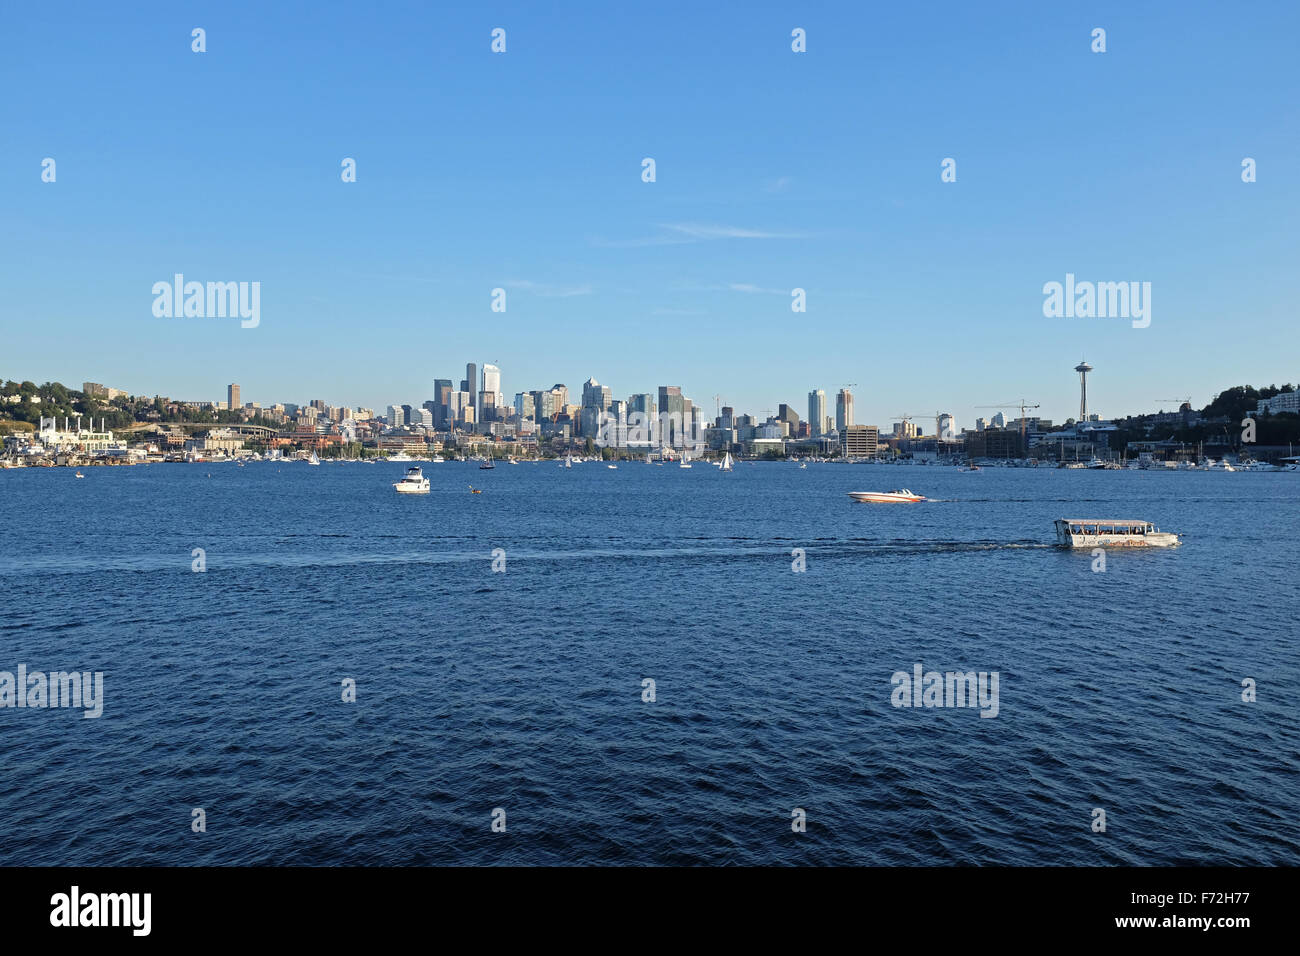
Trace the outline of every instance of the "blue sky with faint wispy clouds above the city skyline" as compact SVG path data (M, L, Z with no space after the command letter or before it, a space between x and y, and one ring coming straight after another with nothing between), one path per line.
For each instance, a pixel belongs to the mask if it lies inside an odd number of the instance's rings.
M1102 415L1294 382L1297 35L1290 0L5 4L0 377L380 408L491 362L710 415L855 382L883 427L1063 420L1082 356ZM155 317L177 272L260 282L260 325ZM1150 282L1149 328L1044 317L1067 272Z

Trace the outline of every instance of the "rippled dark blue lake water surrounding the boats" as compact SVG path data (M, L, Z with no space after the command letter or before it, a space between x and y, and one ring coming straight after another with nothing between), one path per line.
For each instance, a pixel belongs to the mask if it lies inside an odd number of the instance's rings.
M0 472L0 864L1300 862L1297 475L424 467Z

